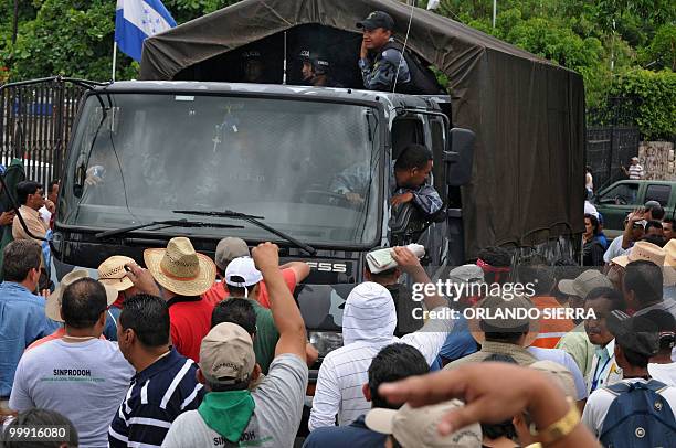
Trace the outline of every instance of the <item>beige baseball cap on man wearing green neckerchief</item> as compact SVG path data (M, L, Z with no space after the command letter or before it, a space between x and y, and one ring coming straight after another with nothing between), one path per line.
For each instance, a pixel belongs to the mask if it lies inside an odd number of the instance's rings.
M249 382L255 365L251 334L236 323L219 323L202 339L200 369L210 383Z

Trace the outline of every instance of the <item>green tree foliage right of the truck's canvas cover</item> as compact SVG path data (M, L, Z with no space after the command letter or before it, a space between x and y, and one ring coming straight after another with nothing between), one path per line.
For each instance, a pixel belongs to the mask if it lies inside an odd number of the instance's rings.
M673 0L500 0L497 8L495 28L493 0L442 0L437 12L579 72L591 109L608 115L626 97L640 104L631 120L644 135L676 134Z

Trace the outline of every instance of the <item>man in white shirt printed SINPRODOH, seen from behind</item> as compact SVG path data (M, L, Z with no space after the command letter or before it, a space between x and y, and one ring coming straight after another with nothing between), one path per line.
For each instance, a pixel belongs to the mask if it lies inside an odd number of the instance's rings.
M81 278L61 298L65 334L23 354L10 408L56 410L77 429L80 446L107 447L108 426L125 398L134 367L102 340L107 299L102 284Z

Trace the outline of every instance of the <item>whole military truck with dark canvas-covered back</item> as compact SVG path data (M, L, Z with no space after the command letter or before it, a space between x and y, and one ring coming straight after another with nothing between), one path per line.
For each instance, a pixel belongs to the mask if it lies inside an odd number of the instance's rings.
M283 262L311 267L296 298L325 354L340 344L341 306L374 247L424 245L433 279L488 245L572 253L583 230L583 198L570 194L583 182L581 77L379 1L406 52L448 78L448 94L365 90L356 22L373 2L344 3L239 2L146 40L142 81L88 90L63 170L57 264L140 263L142 249L178 235L210 255L224 236L273 241ZM294 55L308 42L344 88L294 85ZM243 83L241 55L253 50L263 81ZM434 156L444 210L433 218L389 206L392 162L412 142ZM359 179L362 200L340 194L339 178Z

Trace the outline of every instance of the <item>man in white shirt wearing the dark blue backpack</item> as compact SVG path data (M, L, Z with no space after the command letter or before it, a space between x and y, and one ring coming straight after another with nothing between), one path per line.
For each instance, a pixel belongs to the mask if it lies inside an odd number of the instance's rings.
M658 348L657 327L645 318L630 318L622 311L613 311L608 318L608 324L615 335L615 358L624 372L622 382L626 384L646 383L649 378L648 360ZM676 409L676 388L667 386L658 394L664 397L672 409ZM605 416L616 397L616 394L605 387L589 396L582 422L596 437L602 435ZM646 439L645 446L653 445L649 445Z

